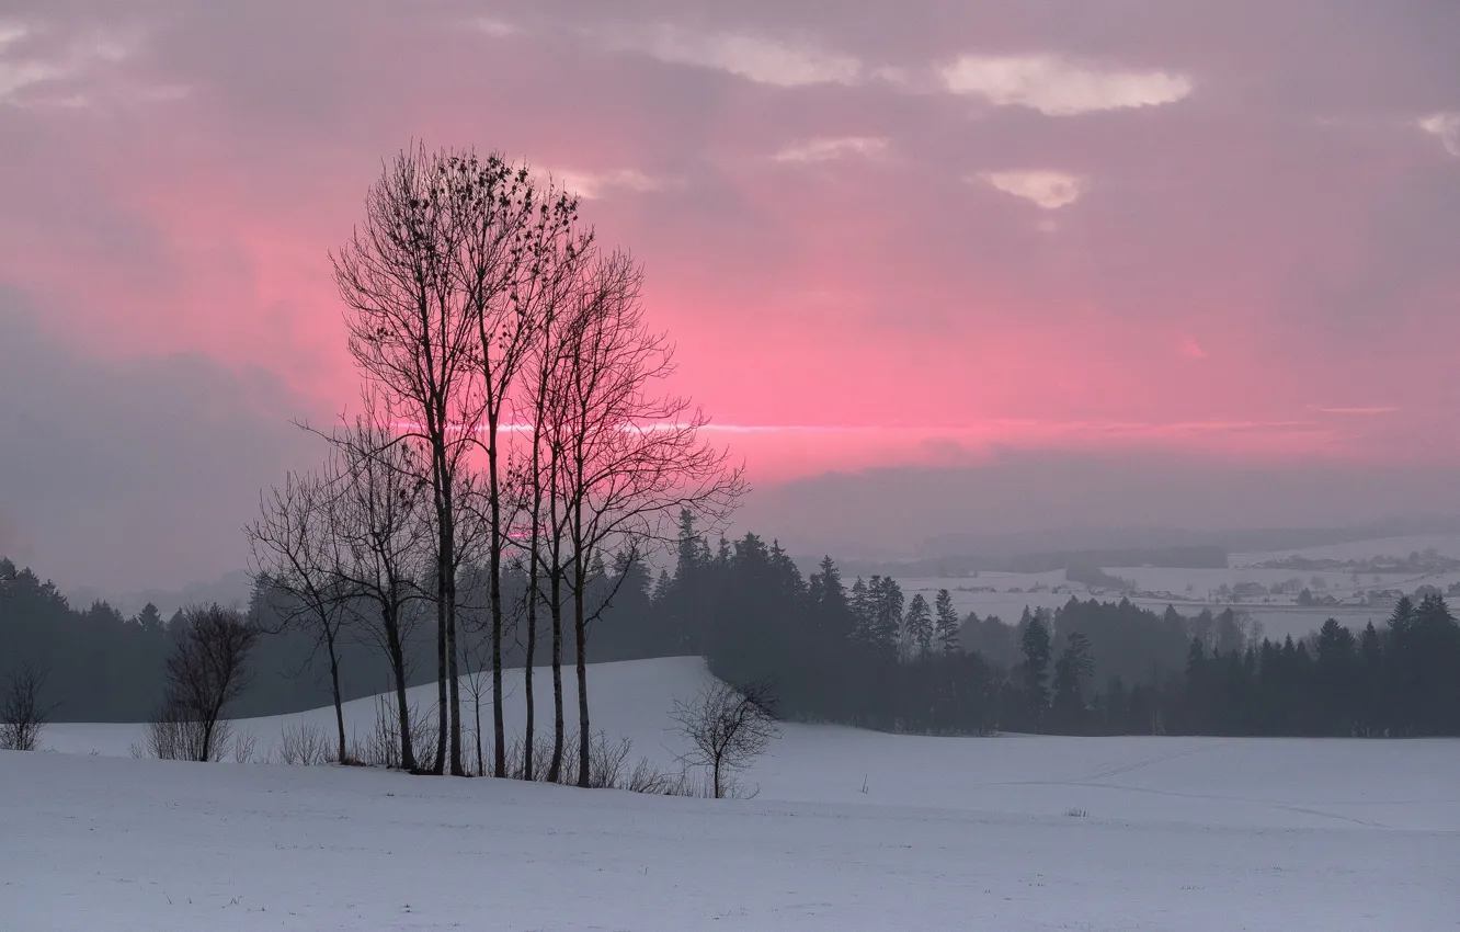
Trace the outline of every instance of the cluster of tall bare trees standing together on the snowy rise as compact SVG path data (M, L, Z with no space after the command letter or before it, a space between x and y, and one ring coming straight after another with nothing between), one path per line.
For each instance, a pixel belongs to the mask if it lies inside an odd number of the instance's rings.
M575 752L571 771L587 786L587 638L604 609L603 555L645 559L686 508L724 517L743 475L702 440L699 409L664 390L672 349L644 318L641 266L600 247L577 199L527 167L407 149L369 188L364 222L331 260L365 383L362 410L321 432L331 453L320 472L291 475L263 497L248 536L254 573L280 600L277 616L314 631L328 657L340 758L337 646L361 637L391 663L403 767L466 773L461 673L474 663L489 671L492 703L491 760L479 770L561 780ZM508 568L526 576L524 595L504 596ZM464 605L464 574L485 577L473 589L486 605ZM467 624L482 627L482 657L464 650ZM419 729L406 704L403 646L419 627L437 646L434 748L413 746ZM502 703L510 638L526 653L524 754L514 773ZM566 638L577 668L572 730ZM545 647L546 761L534 754L531 672ZM482 757L483 727L472 730Z

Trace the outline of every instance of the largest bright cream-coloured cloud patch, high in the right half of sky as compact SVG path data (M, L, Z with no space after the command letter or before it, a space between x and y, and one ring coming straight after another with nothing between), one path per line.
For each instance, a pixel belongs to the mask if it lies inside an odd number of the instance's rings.
M950 93L1048 117L1175 104L1193 89L1180 73L1076 64L1057 56L961 56L940 67L939 77Z

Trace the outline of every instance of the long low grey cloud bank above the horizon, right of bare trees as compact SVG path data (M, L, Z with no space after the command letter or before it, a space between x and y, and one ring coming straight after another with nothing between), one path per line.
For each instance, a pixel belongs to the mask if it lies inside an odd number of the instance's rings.
M1337 527L1397 516L1460 516L1460 476L1396 463L1003 450L961 467L796 479L756 492L736 530L780 538L799 555L901 558L940 535ZM1069 539L1092 546L1089 535Z

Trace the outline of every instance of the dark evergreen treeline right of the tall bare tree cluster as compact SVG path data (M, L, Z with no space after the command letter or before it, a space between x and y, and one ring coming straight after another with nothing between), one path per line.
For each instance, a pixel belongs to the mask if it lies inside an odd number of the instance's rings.
M1460 625L1405 599L1359 635L1259 638L1225 611L1186 618L1080 602L1018 624L958 618L896 580L803 577L755 535L711 552L685 522L654 603L720 676L781 684L791 717L926 733L1460 735Z

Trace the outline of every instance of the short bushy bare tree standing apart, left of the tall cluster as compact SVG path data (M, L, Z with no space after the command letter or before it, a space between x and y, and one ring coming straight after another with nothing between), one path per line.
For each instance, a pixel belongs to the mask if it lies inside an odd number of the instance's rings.
M166 692L153 720L158 757L210 761L226 736L223 708L248 687L248 653L260 630L241 612L218 605L182 612L177 643L166 657ZM168 742L171 754L165 754Z

